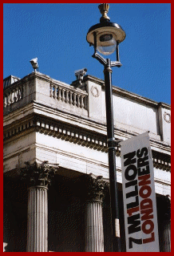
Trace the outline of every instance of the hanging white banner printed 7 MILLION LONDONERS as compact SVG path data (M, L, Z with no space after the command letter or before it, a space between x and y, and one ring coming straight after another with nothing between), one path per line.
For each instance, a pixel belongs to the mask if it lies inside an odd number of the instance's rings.
M148 132L121 143L127 252L160 252Z

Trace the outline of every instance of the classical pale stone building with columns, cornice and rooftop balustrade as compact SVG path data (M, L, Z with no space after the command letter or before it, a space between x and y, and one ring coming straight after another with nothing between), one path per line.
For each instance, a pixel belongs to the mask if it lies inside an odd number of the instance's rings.
M160 251L170 251L171 108L113 87L115 139L149 131ZM4 251L111 251L105 84L4 79ZM117 146L121 251L125 251Z

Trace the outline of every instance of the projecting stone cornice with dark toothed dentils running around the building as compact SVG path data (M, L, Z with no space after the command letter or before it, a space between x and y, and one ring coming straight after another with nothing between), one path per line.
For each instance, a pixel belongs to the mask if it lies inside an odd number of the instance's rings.
M38 105L38 104L37 104ZM36 107L36 104L33 104ZM30 108L31 109L31 108ZM54 113L55 114L55 113ZM101 152L108 152L107 148L107 132L106 126L103 124L96 124L93 121L86 123L85 119L81 117L74 117L72 122L72 116L67 116L67 113L57 112L57 118L53 116L44 116L42 112L28 112L28 115L23 116L18 121L8 120L4 125L4 144L8 144L10 141L22 137L30 132L41 132L45 135L60 138L61 140L68 140L72 143L79 144L81 146L94 148ZM64 119L62 119L64 116ZM7 117L7 116L6 116ZM61 117L61 118L60 118ZM69 117L71 119L69 119ZM96 127L96 129L93 129ZM131 136L138 134L132 134L131 132L123 132L115 128L115 140L126 140ZM170 146L162 141L150 140L152 145L153 164L156 169L163 169L170 171L171 169L171 156ZM121 156L121 147L119 143L116 147L117 156Z

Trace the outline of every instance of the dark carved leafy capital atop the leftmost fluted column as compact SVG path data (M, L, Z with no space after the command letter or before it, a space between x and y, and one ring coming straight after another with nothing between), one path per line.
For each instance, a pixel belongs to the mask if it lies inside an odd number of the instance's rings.
M22 168L22 179L27 181L30 186L45 186L48 187L56 173L56 169L47 165L48 161L44 161L42 164L34 162L30 165L30 162L26 162L26 168Z

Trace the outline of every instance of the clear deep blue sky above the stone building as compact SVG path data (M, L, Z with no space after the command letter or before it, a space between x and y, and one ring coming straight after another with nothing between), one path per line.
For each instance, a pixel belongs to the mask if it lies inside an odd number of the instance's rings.
M86 42L89 27L101 18L98 3L6 3L3 15L4 78L30 74L30 59L38 57L39 71L53 79L72 83L83 67L104 79ZM126 33L113 85L171 104L171 4L111 3L108 15Z

